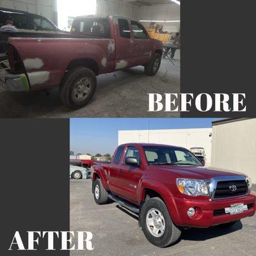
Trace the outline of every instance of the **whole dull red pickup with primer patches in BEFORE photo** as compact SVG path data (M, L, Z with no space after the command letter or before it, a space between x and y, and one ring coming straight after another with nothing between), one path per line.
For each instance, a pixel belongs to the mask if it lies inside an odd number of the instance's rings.
M7 55L0 60L0 83L14 92L60 86L63 103L81 108L95 93L97 75L143 65L154 76L162 54L163 44L135 20L77 17L70 34L9 38Z

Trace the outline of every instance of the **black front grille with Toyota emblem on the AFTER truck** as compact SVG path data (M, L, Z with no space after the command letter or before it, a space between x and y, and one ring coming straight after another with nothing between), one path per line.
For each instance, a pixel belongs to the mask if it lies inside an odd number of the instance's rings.
M236 191L232 191L230 186L236 185ZM216 186L214 198L225 198L230 196L243 196L247 194L246 180L219 181Z

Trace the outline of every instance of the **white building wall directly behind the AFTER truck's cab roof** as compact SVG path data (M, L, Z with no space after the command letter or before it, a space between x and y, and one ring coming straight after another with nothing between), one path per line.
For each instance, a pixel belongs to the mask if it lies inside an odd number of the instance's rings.
M159 143L184 148L205 148L206 164L211 164L212 129L173 129L151 131L119 131L118 145L124 143Z

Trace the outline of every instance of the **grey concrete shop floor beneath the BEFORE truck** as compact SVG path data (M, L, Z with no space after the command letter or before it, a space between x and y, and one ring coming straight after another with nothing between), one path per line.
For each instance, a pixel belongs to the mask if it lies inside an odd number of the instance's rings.
M179 58L179 53L177 53ZM180 61L173 66L163 60L156 76L149 77L143 67L97 77L98 87L92 101L83 109L63 106L58 88L47 96L44 91L11 93L0 87L0 118L70 117L179 117L179 113L149 113L147 93L180 93Z

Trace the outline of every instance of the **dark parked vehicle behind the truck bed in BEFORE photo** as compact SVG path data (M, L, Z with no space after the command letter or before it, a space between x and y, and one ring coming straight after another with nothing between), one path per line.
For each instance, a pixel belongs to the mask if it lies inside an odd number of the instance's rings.
M54 33L65 33L51 22L51 20L34 13L0 8L0 27L6 25L7 20L12 20L17 32L0 31L0 54L7 51L7 42L10 37L44 37Z

